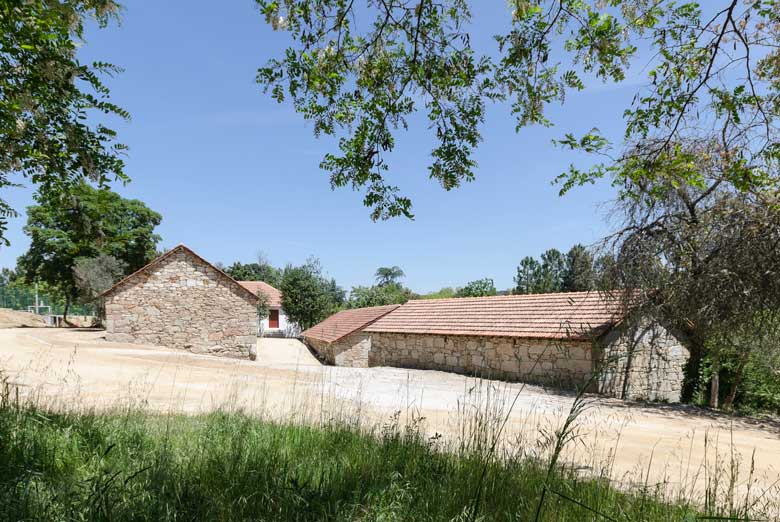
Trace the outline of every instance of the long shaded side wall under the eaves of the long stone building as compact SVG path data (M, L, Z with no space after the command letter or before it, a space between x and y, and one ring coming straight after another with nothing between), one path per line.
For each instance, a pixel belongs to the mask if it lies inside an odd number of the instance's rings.
M371 334L368 364L562 387L584 384L593 370L587 342L398 333Z

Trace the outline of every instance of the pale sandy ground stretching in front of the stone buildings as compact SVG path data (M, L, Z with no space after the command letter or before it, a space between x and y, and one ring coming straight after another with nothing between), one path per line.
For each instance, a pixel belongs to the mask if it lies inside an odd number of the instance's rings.
M290 339L261 340L252 362L108 343L100 331L4 329L0 372L22 393L55 407L239 408L304 422L418 422L428 434L456 443L491 440L507 417L502 450L538 456L549 450L574 400L536 386L444 372L323 366ZM697 498L715 468L733 466L738 492L752 484L754 495L767 492L762 501L780 503L775 424L591 397L577 426L566 460L583 472L607 472L624 485L663 483Z

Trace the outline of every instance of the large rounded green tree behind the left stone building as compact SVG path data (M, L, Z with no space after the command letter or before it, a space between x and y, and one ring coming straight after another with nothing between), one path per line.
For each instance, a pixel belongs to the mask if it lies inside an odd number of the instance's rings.
M76 261L112 256L131 273L155 257L162 217L136 199L79 183L63 197L39 198L28 207L29 250L19 258L27 281L42 281L60 292L68 307L79 298Z

